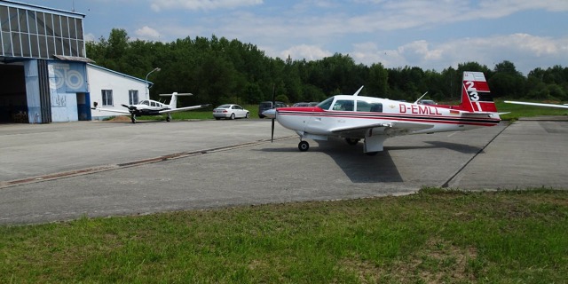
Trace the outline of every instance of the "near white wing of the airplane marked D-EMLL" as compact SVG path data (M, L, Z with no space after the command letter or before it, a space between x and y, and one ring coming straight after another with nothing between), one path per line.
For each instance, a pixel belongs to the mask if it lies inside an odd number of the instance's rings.
M384 133L390 136L408 134L417 130L427 130L434 127L432 124L422 124L413 122L390 122L390 123L374 123L355 127L338 127L331 130L334 133L348 135L353 137L365 137L367 130L383 128Z

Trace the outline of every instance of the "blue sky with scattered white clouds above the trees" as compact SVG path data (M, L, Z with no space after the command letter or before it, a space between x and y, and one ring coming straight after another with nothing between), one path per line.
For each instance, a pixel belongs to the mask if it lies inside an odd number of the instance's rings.
M281 59L341 53L367 66L438 72L509 60L523 75L568 67L568 0L18 1L84 14L94 41L122 28L132 40L237 39Z

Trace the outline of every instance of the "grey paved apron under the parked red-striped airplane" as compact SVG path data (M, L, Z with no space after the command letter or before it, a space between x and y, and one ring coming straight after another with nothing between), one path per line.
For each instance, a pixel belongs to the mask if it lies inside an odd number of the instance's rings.
M0 125L0 224L458 189L568 188L568 121L362 143L299 139L268 119Z

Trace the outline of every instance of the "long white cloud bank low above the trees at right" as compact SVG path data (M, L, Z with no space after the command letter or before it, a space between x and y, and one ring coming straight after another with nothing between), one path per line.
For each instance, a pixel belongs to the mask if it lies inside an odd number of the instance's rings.
M535 67L568 66L568 37L550 38L528 34L461 38L446 43L414 41L396 50L381 50L375 43L353 45L351 52L357 62L371 65L381 62L385 67L417 66L438 71L475 61L493 68L503 60L515 64L528 74Z

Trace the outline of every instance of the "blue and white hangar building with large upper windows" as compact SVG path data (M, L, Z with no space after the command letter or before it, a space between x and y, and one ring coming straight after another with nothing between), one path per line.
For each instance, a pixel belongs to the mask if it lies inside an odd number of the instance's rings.
M85 15L0 0L0 123L89 121L91 106L147 98L146 80L98 67L85 54Z

